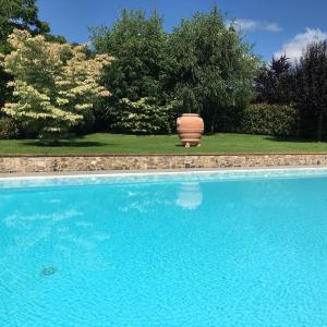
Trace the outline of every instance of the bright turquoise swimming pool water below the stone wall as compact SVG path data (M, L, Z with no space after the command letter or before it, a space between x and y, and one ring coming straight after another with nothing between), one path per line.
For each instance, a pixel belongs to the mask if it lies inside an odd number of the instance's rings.
M327 171L1 180L0 326L327 326Z

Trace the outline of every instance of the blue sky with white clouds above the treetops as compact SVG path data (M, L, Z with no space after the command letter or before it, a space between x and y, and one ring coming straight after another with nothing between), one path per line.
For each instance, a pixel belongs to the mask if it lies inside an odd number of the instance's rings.
M88 27L110 26L122 9L156 9L170 32L182 17L214 4L235 21L244 39L264 60L287 53L291 60L313 40L327 39L327 0L38 0L39 16L51 33L69 41L88 40Z

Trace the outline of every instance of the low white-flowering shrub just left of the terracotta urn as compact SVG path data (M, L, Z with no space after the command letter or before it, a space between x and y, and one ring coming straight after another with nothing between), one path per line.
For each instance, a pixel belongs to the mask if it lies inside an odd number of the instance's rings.
M141 98L137 101L123 98L119 101L119 107L120 110L111 124L113 130L136 134L171 133L172 104L158 106L156 100L149 98Z

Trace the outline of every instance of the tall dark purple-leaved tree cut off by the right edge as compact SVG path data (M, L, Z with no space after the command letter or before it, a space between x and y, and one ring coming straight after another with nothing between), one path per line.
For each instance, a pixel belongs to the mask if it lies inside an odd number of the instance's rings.
M327 114L327 40L311 44L295 69L295 101L302 128L313 122L317 141L323 140Z

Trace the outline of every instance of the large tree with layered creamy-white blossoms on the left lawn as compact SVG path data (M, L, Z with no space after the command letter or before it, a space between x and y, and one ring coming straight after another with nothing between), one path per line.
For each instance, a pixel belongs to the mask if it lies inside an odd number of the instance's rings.
M56 141L83 120L99 97L110 93L99 85L107 55L87 58L86 46L53 44L15 29L9 36L10 55L2 56L4 70L14 76L9 87L15 101L5 104L8 116L21 120L39 138Z

